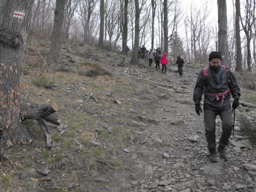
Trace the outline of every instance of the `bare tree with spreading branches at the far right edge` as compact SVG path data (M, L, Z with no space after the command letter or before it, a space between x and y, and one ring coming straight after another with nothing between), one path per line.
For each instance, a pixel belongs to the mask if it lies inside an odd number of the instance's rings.
M246 47L247 47L247 70L252 71L251 68L251 39L253 36L252 26L255 22L255 0L248 0L245 2L245 18L241 18L241 25L243 27L246 36Z

